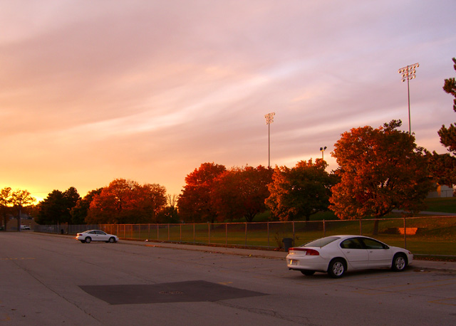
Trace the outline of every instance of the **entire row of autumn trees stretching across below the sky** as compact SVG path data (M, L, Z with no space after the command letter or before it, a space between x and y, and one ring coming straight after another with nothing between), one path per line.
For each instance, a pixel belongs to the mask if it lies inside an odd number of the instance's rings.
M455 63L456 59L452 59ZM455 78L443 90L455 97ZM326 172L323 159L297 162L295 167L231 167L206 162L185 178L179 196L159 184L115 179L81 198L71 187L54 190L28 206L39 224L140 224L254 221L270 211L270 219L294 221L332 210L339 219L380 219L393 209L415 214L435 183L456 184L456 126L438 131L449 153L428 152L414 135L399 130L402 122L353 128L341 135L331 155L338 169ZM28 191L1 190L4 224L7 211L33 203ZM28 195L27 195L28 194ZM18 198L22 199L18 199ZM376 224L378 227L378 224ZM374 230L375 232L375 230Z

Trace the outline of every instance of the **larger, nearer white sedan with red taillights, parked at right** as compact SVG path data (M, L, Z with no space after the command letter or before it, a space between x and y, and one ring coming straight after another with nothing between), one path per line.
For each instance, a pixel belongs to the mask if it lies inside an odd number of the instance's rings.
M366 236L327 236L299 247L289 248L286 265L304 275L328 273L341 278L347 270L391 268L404 270L413 254Z

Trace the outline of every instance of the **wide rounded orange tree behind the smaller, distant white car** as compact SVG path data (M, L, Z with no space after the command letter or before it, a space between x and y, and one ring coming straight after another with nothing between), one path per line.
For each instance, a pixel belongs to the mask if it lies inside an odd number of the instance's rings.
M115 179L93 196L86 223L150 223L165 206L165 192L165 187L158 184L140 185L132 180Z

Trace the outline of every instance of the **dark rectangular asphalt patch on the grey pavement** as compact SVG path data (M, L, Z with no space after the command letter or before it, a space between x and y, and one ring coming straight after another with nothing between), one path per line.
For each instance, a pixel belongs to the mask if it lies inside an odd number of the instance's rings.
M110 305L214 302L266 295L205 280L146 285L80 285L79 288Z

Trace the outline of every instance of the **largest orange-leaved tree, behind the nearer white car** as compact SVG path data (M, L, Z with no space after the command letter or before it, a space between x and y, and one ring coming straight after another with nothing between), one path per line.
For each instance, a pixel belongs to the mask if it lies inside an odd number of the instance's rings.
M400 209L416 213L432 189L424 149L415 137L397 128L400 120L383 127L353 128L344 132L331 153L339 164L341 182L329 201L339 219L378 219Z

